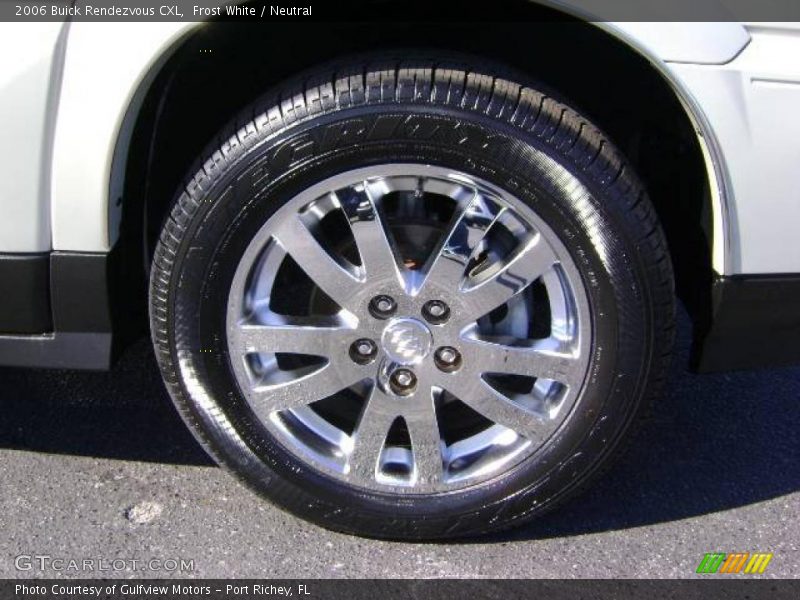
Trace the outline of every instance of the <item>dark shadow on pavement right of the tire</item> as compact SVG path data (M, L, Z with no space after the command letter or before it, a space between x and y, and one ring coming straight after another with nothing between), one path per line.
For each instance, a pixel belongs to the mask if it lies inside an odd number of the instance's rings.
M695 375L690 329L630 449L584 494L503 540L675 521L800 490L800 368ZM485 540L484 540L485 541Z

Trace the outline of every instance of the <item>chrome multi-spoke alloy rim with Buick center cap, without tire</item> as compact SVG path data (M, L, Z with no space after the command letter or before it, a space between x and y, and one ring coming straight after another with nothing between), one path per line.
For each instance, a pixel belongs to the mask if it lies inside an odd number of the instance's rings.
M589 364L573 258L513 194L383 164L284 204L236 270L226 320L254 416L350 485L436 493L540 451Z

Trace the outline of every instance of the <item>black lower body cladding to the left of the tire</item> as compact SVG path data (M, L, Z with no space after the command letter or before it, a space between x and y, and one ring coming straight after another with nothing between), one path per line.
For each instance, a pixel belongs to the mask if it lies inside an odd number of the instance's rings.
M146 331L144 290L125 254L117 246L108 253L0 255L0 365L111 368Z

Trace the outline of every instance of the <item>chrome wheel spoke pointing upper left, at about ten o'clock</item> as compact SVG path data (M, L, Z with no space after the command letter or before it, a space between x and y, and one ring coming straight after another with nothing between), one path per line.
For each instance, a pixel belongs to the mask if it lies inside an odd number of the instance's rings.
M281 247L334 302L347 308L359 279L322 247L295 215L274 234Z

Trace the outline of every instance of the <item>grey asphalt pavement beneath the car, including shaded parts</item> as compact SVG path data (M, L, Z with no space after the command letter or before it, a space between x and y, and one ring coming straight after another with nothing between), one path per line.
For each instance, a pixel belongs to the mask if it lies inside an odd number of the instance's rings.
M185 430L147 340L109 373L0 369L0 577L683 578L707 552L771 552L763 577L800 577L800 368L693 375L687 344L684 318L667 393L594 488L448 544L258 499Z

